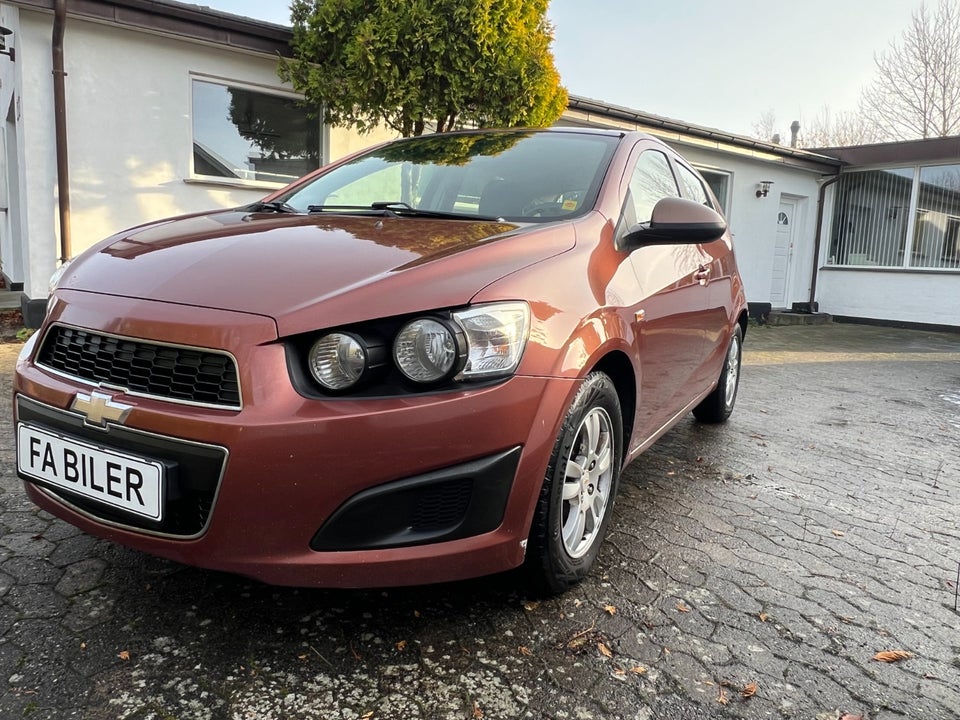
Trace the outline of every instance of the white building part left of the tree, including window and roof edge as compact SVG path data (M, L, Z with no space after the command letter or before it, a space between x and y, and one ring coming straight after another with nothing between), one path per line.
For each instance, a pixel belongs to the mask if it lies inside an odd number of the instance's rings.
M5 0L0 26L13 49L0 56L0 269L34 301L25 312L34 322L59 258L149 220L252 202L381 139L307 117L277 77L284 27L168 0ZM67 158L59 168L58 110Z

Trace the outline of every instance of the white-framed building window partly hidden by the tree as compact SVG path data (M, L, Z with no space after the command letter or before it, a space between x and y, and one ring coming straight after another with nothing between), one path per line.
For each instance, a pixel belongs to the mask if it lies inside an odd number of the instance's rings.
M294 95L193 80L193 175L282 186L320 167L320 120Z

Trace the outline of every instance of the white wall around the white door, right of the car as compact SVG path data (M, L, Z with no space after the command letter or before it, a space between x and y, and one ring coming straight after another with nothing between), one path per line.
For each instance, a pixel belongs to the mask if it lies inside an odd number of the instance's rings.
M671 142L689 162L702 168L732 173L727 221L734 235L737 264L743 276L749 302L770 302L774 247L780 197L798 201L795 247L789 267L786 307L810 299L813 270L814 227L817 216L819 173L783 163L740 157L728 152L709 150ZM767 197L758 198L761 180L773 185Z

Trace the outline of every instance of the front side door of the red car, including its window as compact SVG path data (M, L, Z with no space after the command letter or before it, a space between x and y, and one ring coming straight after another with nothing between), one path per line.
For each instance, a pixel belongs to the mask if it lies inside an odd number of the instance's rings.
M652 141L638 145L625 181L620 232L649 221L662 198L680 196L667 153ZM691 244L649 245L630 254L643 299L634 318L640 442L654 436L703 389L692 383L703 361L709 314L709 290L701 284L705 260L700 247Z

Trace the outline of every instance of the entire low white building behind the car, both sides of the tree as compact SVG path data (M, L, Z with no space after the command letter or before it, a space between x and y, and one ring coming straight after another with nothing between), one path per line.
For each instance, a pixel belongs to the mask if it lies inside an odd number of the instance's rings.
M386 137L308 116L277 77L282 26L173 0L0 0L4 29L0 270L31 324L60 258L143 222L252 202ZM960 327L960 138L807 152L577 97L559 124L644 130L694 163L724 206L754 309L816 303Z

